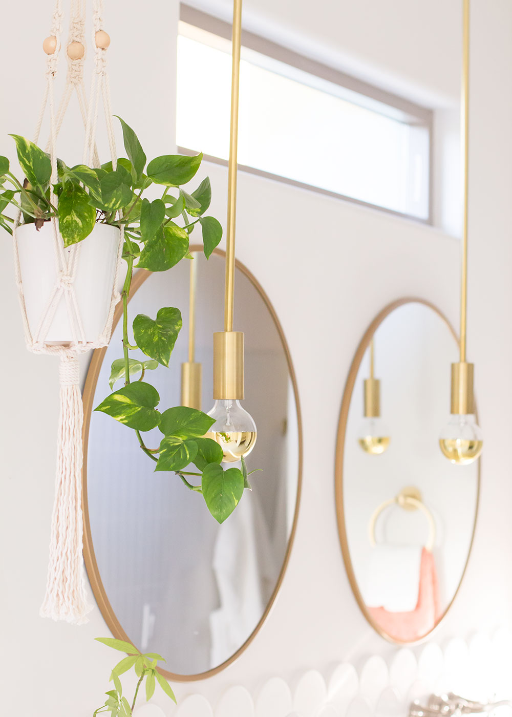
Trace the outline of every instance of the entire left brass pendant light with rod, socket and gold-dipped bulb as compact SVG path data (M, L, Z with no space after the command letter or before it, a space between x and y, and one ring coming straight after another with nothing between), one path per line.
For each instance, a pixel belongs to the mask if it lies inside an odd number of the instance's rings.
M233 331L241 34L242 0L234 0L224 331L214 333L215 404L208 415L215 419L215 423L207 433L207 437L212 438L222 447L223 461L227 463L248 455L256 442L256 424L240 404L244 398L244 334L242 331Z

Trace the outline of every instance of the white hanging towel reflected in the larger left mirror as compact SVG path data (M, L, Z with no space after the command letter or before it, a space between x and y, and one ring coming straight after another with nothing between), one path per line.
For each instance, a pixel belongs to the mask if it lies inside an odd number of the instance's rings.
M245 493L220 526L215 541L213 569L220 607L210 614L212 667L243 645L263 614L262 579L266 570L258 560L258 544L267 547L267 528L257 520L258 511L251 498Z

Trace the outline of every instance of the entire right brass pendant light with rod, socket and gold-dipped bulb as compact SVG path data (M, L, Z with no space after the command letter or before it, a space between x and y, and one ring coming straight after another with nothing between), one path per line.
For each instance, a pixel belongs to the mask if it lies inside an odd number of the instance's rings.
M468 305L468 164L469 164L469 37L470 1L463 0L463 73L460 98L460 133L463 155L463 244L460 293L460 361L452 364L451 418L440 435L443 454L458 465L467 465L482 452L482 432L475 421L473 364L466 361Z

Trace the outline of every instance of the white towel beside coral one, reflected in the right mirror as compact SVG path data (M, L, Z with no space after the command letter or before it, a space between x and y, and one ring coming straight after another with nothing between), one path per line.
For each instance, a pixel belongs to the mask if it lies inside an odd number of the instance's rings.
M421 557L421 546L375 546L366 574L365 604L388 612L412 612L418 602Z

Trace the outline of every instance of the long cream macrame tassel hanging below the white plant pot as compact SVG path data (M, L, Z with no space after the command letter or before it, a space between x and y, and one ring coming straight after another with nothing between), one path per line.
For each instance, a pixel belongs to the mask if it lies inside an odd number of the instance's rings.
M57 477L46 597L40 614L76 625L87 622L82 564L82 395L77 354L60 360L60 419Z

